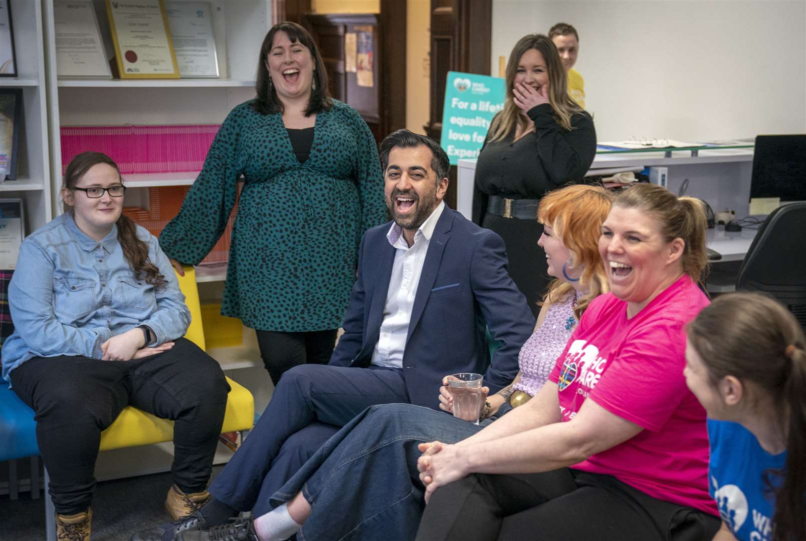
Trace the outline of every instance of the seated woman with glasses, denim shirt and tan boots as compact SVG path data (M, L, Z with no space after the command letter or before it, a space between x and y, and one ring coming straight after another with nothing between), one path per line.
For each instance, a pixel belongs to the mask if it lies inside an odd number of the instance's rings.
M226 409L218 363L182 338L190 312L171 263L123 216L122 181L108 156L77 155L67 212L25 239L9 286L2 377L35 411L59 539L89 539L101 432L124 407L176 421L173 518L209 498Z

